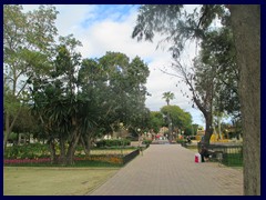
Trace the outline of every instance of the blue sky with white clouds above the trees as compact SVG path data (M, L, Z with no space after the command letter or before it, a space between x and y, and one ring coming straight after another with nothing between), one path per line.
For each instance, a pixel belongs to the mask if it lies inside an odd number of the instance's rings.
M160 111L166 104L163 93L171 91L175 99L170 103L178 106L193 118L193 123L204 126L201 111L192 108L191 98L183 97L181 90L191 97L185 84L176 77L163 73L161 70L170 69L171 53L167 48L156 48L160 41L155 37L153 42L132 39L139 6L131 4L58 4L60 12L55 21L59 36L73 34L82 42L78 50L82 58L101 58L106 51L125 53L130 59L139 56L149 66L146 107L151 111ZM37 9L35 4L24 4L24 11ZM191 10L193 6L187 7ZM196 46L188 43L183 53L187 63L195 57ZM177 87L176 87L177 84Z

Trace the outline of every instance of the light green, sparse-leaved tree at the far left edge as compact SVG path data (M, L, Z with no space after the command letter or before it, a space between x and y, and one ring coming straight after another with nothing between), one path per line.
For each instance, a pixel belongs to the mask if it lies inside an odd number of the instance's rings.
M29 79L35 70L44 71L49 49L57 36L54 7L41 6L33 12L23 12L22 6L3 7L3 73L4 87L4 142L18 119ZM51 52L50 52L51 53ZM7 91L7 90L6 90ZM13 99L9 101L9 99ZM12 109L11 109L12 108Z

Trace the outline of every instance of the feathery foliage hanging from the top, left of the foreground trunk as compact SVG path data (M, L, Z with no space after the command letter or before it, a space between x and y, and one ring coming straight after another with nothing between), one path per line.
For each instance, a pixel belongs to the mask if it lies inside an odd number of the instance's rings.
M152 41L158 33L164 37L161 44L170 43L172 56L178 58L188 39L203 39L216 16L226 17L224 6L219 4L198 6L193 13L184 8L183 4L141 6L132 38Z

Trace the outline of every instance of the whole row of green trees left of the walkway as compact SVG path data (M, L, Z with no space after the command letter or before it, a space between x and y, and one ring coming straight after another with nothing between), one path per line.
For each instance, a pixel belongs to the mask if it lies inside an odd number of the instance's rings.
M21 6L4 6L3 146L30 111L28 119L38 124L32 131L48 141L52 162L72 164L78 143L90 153L95 137L121 123L133 131L143 127L150 72L141 58L120 52L83 59L80 41L58 37L57 14L51 6L27 13Z

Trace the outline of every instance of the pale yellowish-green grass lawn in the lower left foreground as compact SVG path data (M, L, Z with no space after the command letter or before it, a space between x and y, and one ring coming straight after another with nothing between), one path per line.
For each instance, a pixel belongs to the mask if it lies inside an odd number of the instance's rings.
M4 196L84 196L120 168L3 168Z

